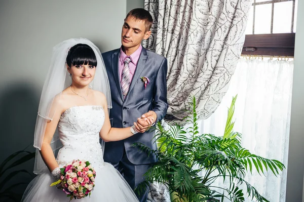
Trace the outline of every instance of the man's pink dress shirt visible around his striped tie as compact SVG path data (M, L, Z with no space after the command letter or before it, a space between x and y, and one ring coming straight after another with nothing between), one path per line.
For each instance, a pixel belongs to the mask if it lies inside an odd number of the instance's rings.
M142 50L142 46L140 45L139 48L129 56L131 59L131 62L129 63L130 81L132 81L141 50ZM123 49L121 47L120 56L119 56L119 76L120 76L121 85L122 85L122 73L124 68L124 61L127 57L128 56L123 52Z

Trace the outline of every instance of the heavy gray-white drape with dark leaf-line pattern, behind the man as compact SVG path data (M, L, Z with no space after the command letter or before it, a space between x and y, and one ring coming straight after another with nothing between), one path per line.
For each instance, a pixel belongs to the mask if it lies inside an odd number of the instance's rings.
M167 123L183 124L189 97L200 119L219 105L245 39L251 0L145 0L154 18L146 49L168 59Z

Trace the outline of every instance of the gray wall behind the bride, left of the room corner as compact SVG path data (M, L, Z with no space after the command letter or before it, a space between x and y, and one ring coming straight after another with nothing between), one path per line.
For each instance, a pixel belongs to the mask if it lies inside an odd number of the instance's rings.
M126 0L0 0L0 164L26 146L33 150L52 47L70 37L85 37L101 52L119 48L126 5ZM32 172L33 161L25 168Z

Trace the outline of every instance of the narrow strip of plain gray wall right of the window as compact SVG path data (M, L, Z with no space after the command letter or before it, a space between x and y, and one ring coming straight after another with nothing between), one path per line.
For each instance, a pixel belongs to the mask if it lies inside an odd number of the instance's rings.
M291 103L290 138L286 202L300 202L304 172L304 1L298 1L295 34L294 73ZM304 202L304 200L303 200Z

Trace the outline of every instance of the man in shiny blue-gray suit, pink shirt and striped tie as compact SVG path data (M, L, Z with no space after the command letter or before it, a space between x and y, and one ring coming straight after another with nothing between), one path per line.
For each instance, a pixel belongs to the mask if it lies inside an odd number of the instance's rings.
M141 46L142 40L151 34L152 23L148 11L133 9L122 27L121 48L102 54L111 88L112 127L125 128L137 122L136 128L142 132L125 140L105 143L104 160L121 172L132 189L144 180L143 174L150 164L157 161L154 155L132 144L140 142L156 149L155 132L148 128L161 120L168 109L167 60ZM143 202L147 200L147 193L148 188L136 195Z

